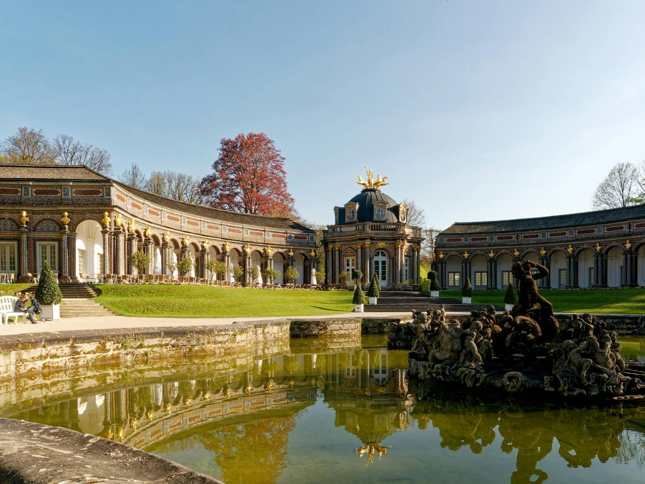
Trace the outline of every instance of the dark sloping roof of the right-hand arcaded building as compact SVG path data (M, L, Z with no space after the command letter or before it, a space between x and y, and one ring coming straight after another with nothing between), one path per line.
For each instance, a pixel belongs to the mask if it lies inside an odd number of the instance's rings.
M610 224L636 218L645 218L645 205L571 213L569 215L553 215L552 217L516 218L515 220L494 220L491 222L455 222L452 226L442 231L440 235L539 231Z

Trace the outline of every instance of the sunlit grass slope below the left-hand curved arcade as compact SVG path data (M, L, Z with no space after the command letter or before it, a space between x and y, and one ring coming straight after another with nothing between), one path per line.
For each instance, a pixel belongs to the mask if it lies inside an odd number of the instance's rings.
M95 286L97 301L123 316L253 318L349 313L347 291L270 291L208 286Z

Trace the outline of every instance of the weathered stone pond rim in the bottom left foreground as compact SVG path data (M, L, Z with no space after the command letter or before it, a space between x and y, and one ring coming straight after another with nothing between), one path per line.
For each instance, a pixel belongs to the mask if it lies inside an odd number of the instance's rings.
M61 427L0 418L0 484L222 484L122 443Z

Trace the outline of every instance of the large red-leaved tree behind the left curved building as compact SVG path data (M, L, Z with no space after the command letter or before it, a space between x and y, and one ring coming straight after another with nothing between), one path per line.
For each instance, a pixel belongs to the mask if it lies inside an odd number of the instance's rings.
M213 173L202 179L201 195L215 208L283 217L293 213L284 157L264 133L223 138Z

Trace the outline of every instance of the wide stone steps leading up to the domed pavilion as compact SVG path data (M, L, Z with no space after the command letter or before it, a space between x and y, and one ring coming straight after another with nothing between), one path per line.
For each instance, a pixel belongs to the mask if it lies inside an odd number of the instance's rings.
M431 298L421 291L388 291L381 290L377 304L364 305L364 311L370 313L407 313L412 311L428 311L439 309L441 304L448 313L470 313L470 311L483 311L490 307L488 304L461 304L455 298ZM502 307L495 306L497 311L504 311Z

